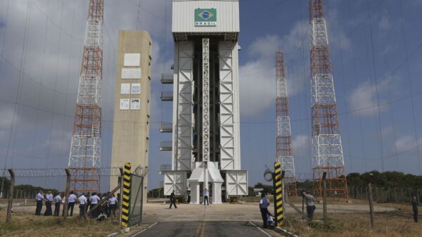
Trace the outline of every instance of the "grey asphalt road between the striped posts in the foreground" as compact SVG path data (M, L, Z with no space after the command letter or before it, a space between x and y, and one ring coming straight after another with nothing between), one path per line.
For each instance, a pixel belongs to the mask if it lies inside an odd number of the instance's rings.
M251 222L157 222L131 237L271 237L280 236Z

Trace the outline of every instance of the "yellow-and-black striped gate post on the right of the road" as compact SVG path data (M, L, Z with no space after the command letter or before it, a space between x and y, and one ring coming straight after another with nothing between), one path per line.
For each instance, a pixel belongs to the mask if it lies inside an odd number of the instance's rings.
M282 226L284 220L283 213L283 183L281 181L281 164L274 162L274 217L276 217L276 226Z

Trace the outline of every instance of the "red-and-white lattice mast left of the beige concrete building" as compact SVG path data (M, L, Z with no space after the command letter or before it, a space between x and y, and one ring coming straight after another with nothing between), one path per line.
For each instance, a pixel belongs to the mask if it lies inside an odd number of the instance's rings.
M74 191L100 190L103 0L89 0L68 167Z

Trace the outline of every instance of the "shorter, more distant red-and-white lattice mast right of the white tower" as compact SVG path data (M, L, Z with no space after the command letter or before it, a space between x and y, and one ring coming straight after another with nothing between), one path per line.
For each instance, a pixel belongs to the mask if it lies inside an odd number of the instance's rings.
M282 51L276 51L276 155L281 162L281 169L286 171L285 184L290 196L296 195L295 160L293 159L292 134L288 111L287 82L284 73Z

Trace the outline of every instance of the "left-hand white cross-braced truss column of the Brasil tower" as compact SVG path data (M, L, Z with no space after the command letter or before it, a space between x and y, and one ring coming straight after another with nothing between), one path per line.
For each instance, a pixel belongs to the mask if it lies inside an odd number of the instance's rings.
M192 155L192 96L193 96L193 44L177 42L177 117L174 121L174 170L191 170Z

